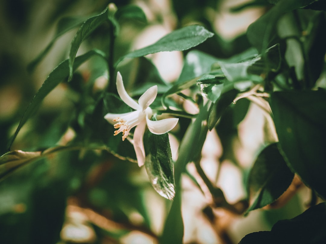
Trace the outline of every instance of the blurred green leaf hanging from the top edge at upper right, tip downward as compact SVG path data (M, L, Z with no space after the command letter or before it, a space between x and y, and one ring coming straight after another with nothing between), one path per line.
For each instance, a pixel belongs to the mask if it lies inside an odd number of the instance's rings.
M314 2L314 0L280 0L267 13L262 15L258 20L249 25L247 37L249 42L256 47L259 52L265 50L268 46L273 45L275 25L280 17L291 10L305 7ZM259 37L259 38L258 38Z

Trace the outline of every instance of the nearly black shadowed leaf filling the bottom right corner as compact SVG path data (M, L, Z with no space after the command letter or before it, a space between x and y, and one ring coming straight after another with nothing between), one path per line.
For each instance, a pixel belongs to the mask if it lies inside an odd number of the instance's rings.
M311 243L326 241L326 203L309 208L290 220L280 220L271 231L260 231L246 235L239 244L252 243Z

